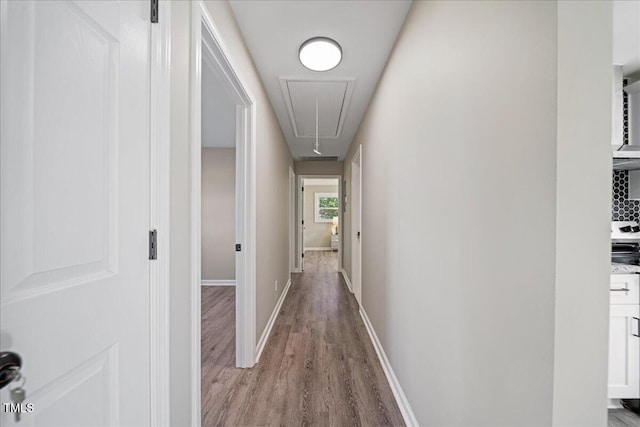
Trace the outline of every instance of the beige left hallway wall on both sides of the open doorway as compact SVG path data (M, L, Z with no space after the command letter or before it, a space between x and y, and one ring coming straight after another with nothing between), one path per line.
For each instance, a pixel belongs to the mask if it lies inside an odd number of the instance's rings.
M289 279L289 148L227 1L207 1L207 9L238 74L256 101L257 289L256 339ZM171 3L171 425L191 420L190 354L190 37L191 2ZM274 291L274 281L281 284ZM195 422L195 421L194 421Z

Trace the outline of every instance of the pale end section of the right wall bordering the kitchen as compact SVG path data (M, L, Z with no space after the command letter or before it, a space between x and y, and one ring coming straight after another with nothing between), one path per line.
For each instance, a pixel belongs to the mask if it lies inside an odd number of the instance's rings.
M558 3L555 426L607 423L611 26L609 2Z

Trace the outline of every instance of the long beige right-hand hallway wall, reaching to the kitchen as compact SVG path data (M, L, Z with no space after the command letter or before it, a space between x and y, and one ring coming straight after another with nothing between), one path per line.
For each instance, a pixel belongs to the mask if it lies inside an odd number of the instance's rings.
M579 5L414 3L345 158L349 180L362 144L363 308L420 425L604 425L611 16Z

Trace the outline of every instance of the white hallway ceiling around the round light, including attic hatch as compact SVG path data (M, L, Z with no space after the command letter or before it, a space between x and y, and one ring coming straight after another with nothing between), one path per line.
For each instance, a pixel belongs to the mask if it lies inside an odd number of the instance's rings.
M344 158L410 6L405 0L231 1L294 158L314 155L316 97L322 156ZM298 60L300 45L317 36L342 46L342 62L331 71L311 71ZM350 99L344 82L351 84Z

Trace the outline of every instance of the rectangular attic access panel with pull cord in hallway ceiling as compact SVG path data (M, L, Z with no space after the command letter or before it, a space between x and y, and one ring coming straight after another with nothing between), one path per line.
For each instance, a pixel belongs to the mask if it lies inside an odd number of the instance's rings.
M319 138L340 137L353 90L353 79L281 78L280 85L289 111L291 127L297 138L316 136L316 98Z

